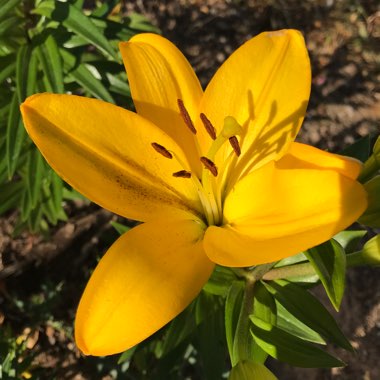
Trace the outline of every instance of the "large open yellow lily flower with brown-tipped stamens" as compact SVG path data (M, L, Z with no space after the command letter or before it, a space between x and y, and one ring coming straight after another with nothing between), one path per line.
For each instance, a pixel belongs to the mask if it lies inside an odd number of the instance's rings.
M100 206L143 224L101 259L75 335L91 355L122 352L179 314L215 263L273 262L328 240L367 206L360 164L294 142L310 93L301 34L262 33L203 92L165 38L120 44L137 113L37 94L29 135L57 173Z

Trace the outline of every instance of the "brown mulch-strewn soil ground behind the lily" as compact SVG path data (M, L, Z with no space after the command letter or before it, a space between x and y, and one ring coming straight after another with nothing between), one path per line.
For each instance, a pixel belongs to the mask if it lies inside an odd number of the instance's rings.
M376 0L136 0L125 2L123 10L142 13L157 25L188 57L203 85L252 36L264 30L299 29L313 66L312 96L300 139L337 152L379 132ZM55 228L49 240L28 233L13 238L15 215L0 219L0 323L27 337L42 379L53 369L58 379L94 378L92 364L75 349L70 326L91 268L116 236L109 224L116 217L85 203L68 205L68 212L69 221ZM347 367L304 370L272 362L280 379L380 378L379 269L349 272L336 317L357 350L355 355L339 352Z

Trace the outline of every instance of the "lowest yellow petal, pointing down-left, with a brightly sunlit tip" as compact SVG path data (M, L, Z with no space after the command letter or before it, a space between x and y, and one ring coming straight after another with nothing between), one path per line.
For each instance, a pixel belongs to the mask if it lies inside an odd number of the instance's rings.
M179 314L214 268L196 220L148 222L101 259L79 304L75 338L87 355L122 352Z

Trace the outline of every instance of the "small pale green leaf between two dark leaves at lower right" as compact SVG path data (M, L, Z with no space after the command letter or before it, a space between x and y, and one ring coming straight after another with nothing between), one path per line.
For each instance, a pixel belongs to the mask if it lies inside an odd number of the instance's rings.
M281 303L276 302L277 308L277 323L276 326L289 334L298 336L302 340L307 340L312 343L325 344L325 340L320 334L312 330L310 327L305 325L299 319L297 319L293 314L286 310Z

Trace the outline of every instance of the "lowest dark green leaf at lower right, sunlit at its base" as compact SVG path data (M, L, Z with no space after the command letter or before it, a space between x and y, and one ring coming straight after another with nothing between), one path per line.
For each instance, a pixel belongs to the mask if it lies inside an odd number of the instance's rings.
M319 347L251 316L251 333L257 344L270 356L303 368L342 367L344 363Z

